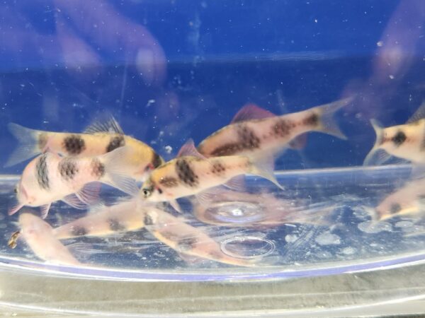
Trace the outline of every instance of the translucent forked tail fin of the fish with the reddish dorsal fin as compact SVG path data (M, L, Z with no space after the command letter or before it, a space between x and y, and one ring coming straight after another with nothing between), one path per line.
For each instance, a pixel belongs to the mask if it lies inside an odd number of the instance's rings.
M346 140L347 137L346 135L344 135L344 133L341 131L338 124L336 123L336 120L334 119L334 114L341 107L348 105L348 103L350 103L352 100L353 100L353 97L344 98L341 100L330 102L329 104L326 104L326 105L320 105L320 106L314 107L313 111L319 117L317 131L321 131L325 134L329 134L332 136L336 136L339 139Z

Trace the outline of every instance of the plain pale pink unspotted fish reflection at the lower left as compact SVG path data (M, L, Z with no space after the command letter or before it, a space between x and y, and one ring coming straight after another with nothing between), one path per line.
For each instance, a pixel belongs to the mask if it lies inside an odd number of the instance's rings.
M18 223L21 237L38 258L53 264L81 265L67 247L53 235L52 227L41 218L25 212L19 216Z

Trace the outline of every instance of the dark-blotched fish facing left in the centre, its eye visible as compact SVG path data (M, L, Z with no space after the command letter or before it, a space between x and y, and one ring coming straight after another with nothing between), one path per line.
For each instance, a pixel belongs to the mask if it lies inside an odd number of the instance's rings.
M264 177L283 189L273 175L273 163L254 163L242 155L205 158L198 153L193 140L189 140L177 158L151 172L142 184L139 197L147 202L169 201L176 211L181 211L176 199L196 195L198 200L205 201L208 200L206 190L222 184L244 189L242 178L246 174Z

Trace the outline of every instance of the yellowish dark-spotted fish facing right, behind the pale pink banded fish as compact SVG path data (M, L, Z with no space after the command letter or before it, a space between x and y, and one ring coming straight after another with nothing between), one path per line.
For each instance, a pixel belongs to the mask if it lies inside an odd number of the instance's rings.
M6 167L47 151L64 156L91 157L110 153L123 146L132 148L132 152L129 152L128 157L123 160L128 166L128 175L137 180L142 181L149 170L164 163L164 159L153 148L125 135L113 117L104 122L94 122L82 134L41 131L14 123L9 123L8 129L19 144L8 158Z

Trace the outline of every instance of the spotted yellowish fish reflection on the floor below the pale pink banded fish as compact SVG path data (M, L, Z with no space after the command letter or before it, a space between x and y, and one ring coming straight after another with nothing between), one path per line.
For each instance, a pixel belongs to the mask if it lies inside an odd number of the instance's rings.
M137 207L137 200L120 201L112 206L99 204L86 216L53 230L57 239L80 236L106 236L118 232L140 230L145 226L145 209Z

